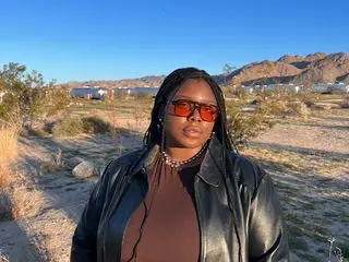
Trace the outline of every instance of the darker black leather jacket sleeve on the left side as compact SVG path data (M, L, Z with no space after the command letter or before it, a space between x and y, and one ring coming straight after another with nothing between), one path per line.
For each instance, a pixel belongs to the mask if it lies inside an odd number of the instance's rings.
M96 183L85 205L72 239L71 262L97 261L97 229L108 186L108 167Z

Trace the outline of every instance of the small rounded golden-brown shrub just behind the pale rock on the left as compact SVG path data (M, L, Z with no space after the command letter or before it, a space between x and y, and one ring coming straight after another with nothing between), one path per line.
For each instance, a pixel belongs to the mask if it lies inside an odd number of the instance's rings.
M58 121L52 129L56 136L76 136L84 131L84 123L80 117L68 117Z

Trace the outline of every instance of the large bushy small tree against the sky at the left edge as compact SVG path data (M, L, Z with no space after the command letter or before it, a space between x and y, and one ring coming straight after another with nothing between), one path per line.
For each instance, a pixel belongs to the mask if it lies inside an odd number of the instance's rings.
M45 83L37 71L27 73L19 63L3 66L0 71L0 92L4 93L0 104L0 119L22 126L39 117L53 115L69 103L65 90Z

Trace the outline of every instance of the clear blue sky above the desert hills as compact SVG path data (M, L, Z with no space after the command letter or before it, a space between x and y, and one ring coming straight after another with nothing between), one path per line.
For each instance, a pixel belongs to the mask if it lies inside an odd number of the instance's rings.
M59 83L349 51L348 0L2 1L0 66Z

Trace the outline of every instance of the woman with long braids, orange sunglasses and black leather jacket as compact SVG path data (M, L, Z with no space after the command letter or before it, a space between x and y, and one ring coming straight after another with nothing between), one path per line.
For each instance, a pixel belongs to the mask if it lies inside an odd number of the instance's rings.
M219 86L178 69L144 147L111 162L73 236L71 261L288 261L267 174L233 152Z

